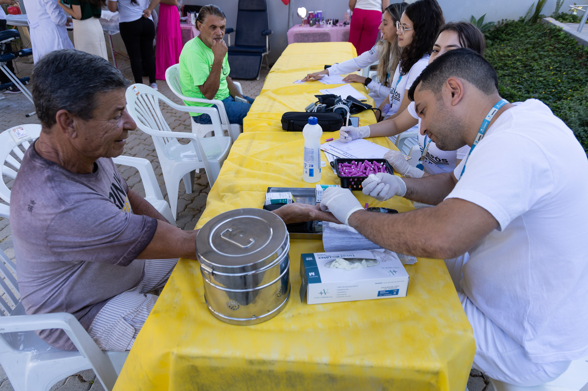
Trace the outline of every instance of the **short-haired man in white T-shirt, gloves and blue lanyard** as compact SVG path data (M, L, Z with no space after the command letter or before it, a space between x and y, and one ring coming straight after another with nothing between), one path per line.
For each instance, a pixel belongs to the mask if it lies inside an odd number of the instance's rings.
M468 156L452 174L379 173L362 183L378 200L435 207L372 213L333 187L320 209L385 249L443 259L467 251L455 282L476 340L473 367L536 386L588 355L588 159L549 107L507 103L497 84L473 50L437 56L409 91L420 132L442 150L468 145Z

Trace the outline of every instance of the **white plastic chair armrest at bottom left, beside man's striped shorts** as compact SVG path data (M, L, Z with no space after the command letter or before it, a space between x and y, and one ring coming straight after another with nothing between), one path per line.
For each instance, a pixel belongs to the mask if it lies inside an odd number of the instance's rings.
M86 332L78 319L67 312L54 314L14 315L0 318L0 333L60 328L65 331L78 351L88 359L96 376L111 390L116 382L116 370L104 352Z

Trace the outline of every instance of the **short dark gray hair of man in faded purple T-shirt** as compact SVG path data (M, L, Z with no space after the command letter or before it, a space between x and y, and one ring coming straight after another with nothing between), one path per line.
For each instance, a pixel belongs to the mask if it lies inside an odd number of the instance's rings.
M48 53L33 68L32 95L44 128L55 125L59 110L84 121L98 107L96 94L131 84L121 71L102 57L74 49Z

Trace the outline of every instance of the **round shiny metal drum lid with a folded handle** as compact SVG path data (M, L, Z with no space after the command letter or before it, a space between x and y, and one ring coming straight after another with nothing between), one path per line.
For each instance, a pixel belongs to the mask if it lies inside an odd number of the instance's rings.
M288 230L268 210L229 210L209 220L196 236L196 252L203 266L223 273L258 270L286 256Z

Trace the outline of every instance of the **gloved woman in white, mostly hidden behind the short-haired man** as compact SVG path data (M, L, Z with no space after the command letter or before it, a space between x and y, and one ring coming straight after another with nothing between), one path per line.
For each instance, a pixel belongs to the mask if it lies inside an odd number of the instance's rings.
M433 52L429 57L429 64L437 56L447 52L447 50L457 49L459 47L467 47L483 56L484 50L486 49L486 40L484 39L483 33L476 26L472 25L472 23L446 23L439 29L435 45L433 45ZM339 140L349 142L356 138L390 137L409 130L415 125L419 126L419 124L420 118L416 115L415 102L410 102L405 111L390 120L360 127L342 127L339 130ZM420 129L420 126L418 128ZM384 156L390 165L392 165L392 168L400 175L407 176L408 178L420 178L442 172L453 172L456 165L469 152L467 145L457 149L457 151L442 151L437 148L435 142L432 142L427 135L422 135L420 132L418 142L421 154L425 152L425 148L427 149L423 157L423 169L408 164L402 152L390 149Z

